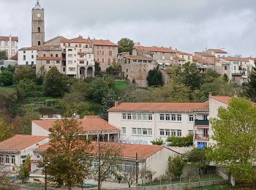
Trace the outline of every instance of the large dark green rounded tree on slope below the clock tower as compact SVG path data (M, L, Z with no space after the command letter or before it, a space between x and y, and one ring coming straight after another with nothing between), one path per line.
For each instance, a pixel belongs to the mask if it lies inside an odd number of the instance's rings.
M67 77L62 75L56 66L45 75L44 90L46 96L61 97L68 90Z

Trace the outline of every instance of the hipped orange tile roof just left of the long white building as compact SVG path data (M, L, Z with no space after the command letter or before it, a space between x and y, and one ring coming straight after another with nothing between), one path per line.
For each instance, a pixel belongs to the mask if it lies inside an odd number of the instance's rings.
M56 119L33 120L38 126L43 129L49 130L58 121ZM119 131L115 126L112 126L97 115L86 115L83 119L78 119L85 132L102 132L102 131Z

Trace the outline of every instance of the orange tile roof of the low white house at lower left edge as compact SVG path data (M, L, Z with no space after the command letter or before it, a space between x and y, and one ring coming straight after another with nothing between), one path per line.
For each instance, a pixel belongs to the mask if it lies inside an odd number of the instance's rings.
M14 137L0 142L0 151L22 151L46 138L43 136L16 134Z

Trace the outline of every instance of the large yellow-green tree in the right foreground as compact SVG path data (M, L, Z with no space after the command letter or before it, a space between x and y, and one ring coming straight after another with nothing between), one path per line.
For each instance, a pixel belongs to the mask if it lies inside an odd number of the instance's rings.
M209 159L226 167L241 183L256 181L256 107L246 99L235 99L219 107L211 119L212 139L217 143L207 152Z

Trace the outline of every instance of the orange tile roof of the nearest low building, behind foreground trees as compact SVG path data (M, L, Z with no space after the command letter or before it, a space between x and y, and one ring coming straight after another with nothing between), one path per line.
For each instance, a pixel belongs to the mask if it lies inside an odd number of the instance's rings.
M116 142L99 142L105 143L106 146L113 147L119 146L121 147L122 157L127 159L136 159L136 153L138 153L138 159L147 159L148 157L154 155L158 151L162 151L164 148L160 145L137 145L137 144L124 144L124 143L116 143ZM92 145L92 153L97 155L97 151L94 151L94 148L97 148L98 142L91 142ZM103 145L104 146L104 145ZM50 145L47 143L45 145L40 146L36 149L36 151L46 151Z

